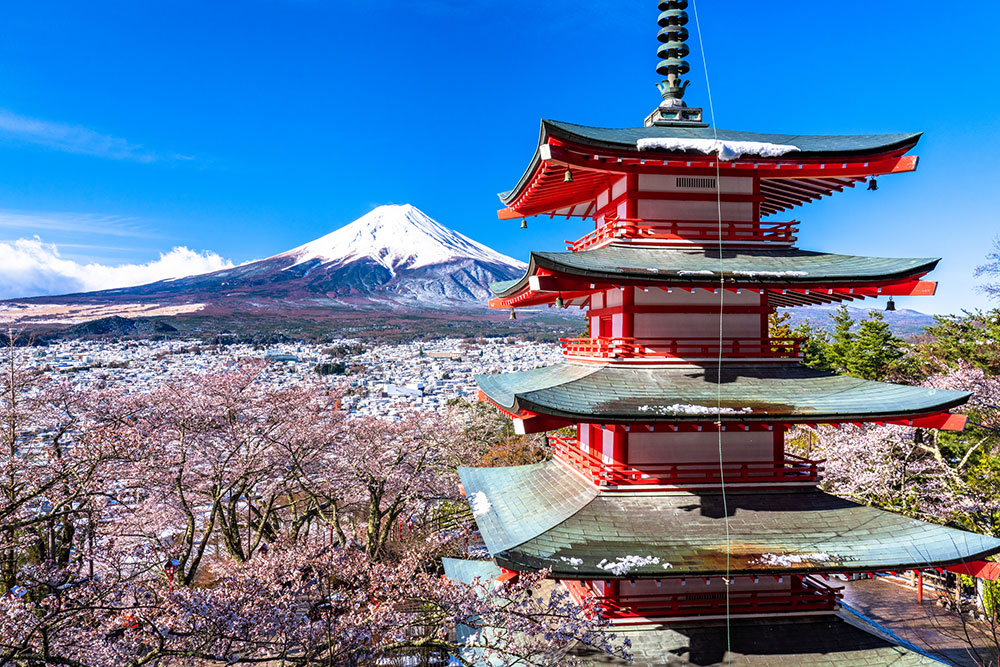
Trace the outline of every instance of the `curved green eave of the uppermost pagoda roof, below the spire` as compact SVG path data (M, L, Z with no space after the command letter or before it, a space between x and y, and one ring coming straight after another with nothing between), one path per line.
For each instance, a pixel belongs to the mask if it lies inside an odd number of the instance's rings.
M802 150L792 151L780 158L764 158L747 156L742 161L766 164L770 162L817 161L835 158L863 159L865 157L900 156L912 149L920 140L922 133L902 133L884 135L787 135L758 134L753 132L738 132L718 130L718 139L726 141L758 141L775 144L792 144ZM645 138L691 138L715 139L716 133L711 128L679 128L679 127L637 127L637 128L596 128L553 120L542 120L538 144L527 169L521 175L517 184L507 192L499 193L500 201L510 205L536 179L539 167L542 165L542 146L549 139L570 142L580 147L594 150L612 151L616 155L632 155L635 158L652 157L656 159L711 159L711 155L696 151L639 151L636 142ZM735 160L733 163L739 163ZM730 163L730 164L733 164ZM570 203L570 202L567 202ZM535 215L537 212L526 213Z

